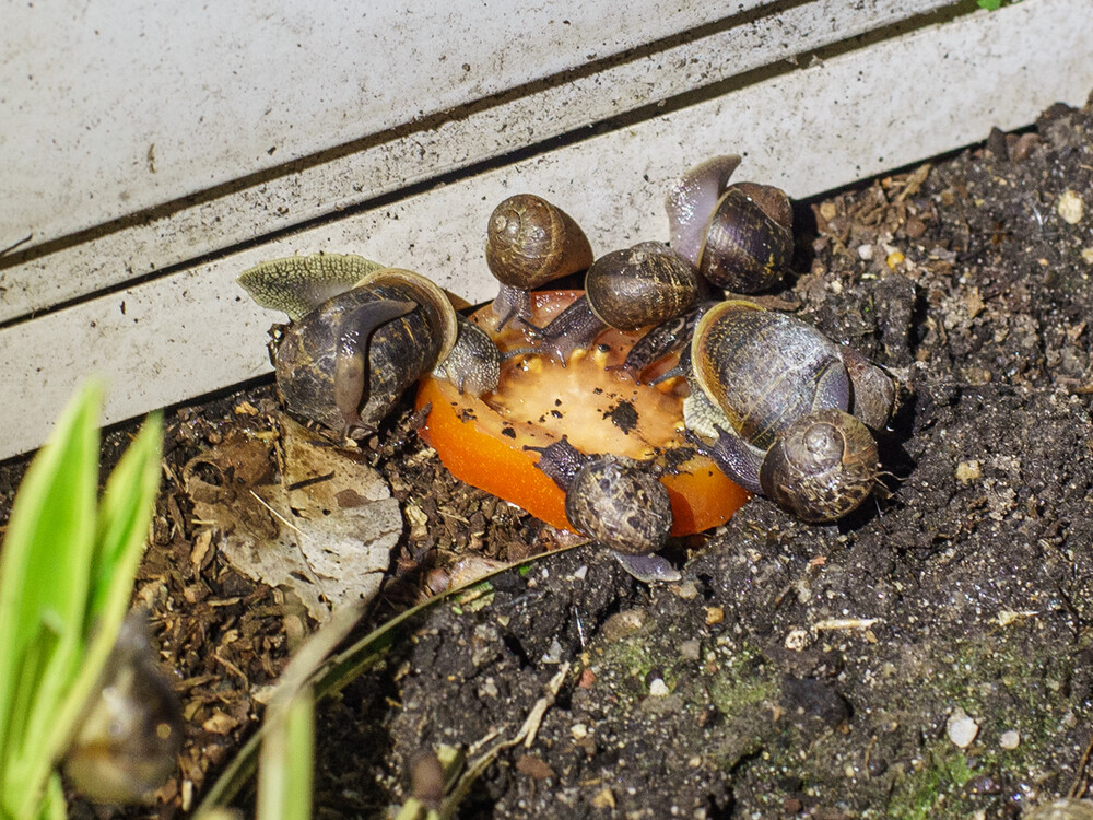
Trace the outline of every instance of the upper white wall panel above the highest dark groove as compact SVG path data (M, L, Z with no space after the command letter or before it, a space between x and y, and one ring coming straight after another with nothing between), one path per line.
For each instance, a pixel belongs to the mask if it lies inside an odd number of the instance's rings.
M741 3L760 5L760 0ZM4 3L0 247L716 21L716 3Z

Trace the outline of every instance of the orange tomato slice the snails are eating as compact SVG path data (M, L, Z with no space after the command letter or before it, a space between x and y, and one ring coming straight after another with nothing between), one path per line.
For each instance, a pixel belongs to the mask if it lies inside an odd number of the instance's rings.
M533 324L545 325L579 295L579 291L533 294ZM496 317L489 306L471 320L491 332L503 353L530 345L512 327L493 333ZM508 360L497 389L482 399L460 396L446 379L426 377L416 399L419 409L432 405L422 436L456 478L554 527L572 529L565 493L534 466L539 454L526 447L545 447L564 435L583 453L644 460L687 446L682 396L674 386L638 385L621 371L604 370L621 364L637 338L608 330L593 350L577 351L565 367L546 355ZM724 524L750 497L703 456L693 456L675 470L661 477L672 502L674 536Z

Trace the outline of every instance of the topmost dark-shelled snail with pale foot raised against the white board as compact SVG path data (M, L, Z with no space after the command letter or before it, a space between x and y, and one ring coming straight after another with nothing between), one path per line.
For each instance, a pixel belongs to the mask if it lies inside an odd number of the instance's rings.
M737 293L774 288L794 253L794 212L771 185L728 185L737 155L716 156L681 177L665 202L672 247L712 284Z

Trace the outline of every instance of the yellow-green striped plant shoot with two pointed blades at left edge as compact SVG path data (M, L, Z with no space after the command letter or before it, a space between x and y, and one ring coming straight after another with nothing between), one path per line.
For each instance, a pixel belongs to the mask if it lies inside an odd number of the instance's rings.
M148 419L99 502L102 394L89 383L62 413L20 485L0 551L0 820L64 816L56 765L143 554L162 420Z

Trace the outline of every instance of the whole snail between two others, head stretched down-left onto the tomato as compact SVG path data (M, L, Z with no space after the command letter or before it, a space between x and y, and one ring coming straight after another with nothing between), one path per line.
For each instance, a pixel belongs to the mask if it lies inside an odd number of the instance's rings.
M604 254L585 276L585 295L545 328L531 328L539 349L560 361L588 348L608 327L632 331L690 309L698 293L694 267L667 245L643 242Z

